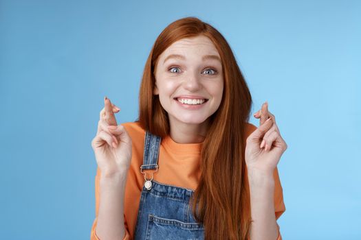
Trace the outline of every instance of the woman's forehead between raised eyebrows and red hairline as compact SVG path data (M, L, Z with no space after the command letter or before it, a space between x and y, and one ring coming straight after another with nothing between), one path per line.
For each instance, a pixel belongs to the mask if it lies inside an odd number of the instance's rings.
M164 59L171 54L197 55L200 57L204 55L219 56L215 45L206 36L196 36L193 38L182 38L177 40L164 50L160 55L160 58Z

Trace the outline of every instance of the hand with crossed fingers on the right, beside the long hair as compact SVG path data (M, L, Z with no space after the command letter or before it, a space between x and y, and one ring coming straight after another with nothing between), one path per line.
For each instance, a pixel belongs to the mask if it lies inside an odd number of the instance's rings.
M287 144L281 137L274 115L268 111L267 101L254 117L260 119L260 125L247 138L245 163L248 169L272 174Z

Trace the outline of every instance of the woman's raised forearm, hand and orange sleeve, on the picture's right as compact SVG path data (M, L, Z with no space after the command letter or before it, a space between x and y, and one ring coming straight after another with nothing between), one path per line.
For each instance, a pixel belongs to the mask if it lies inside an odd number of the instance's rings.
M265 102L261 110L254 114L260 119L260 125L259 128L251 125L253 130L245 148L253 221L250 230L252 240L282 239L276 219L285 211L285 206L277 164L287 149L287 143L267 107Z

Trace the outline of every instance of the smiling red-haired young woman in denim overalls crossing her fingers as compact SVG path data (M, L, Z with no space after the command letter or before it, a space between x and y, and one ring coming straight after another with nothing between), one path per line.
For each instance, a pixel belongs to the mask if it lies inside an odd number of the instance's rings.
M281 239L277 164L287 149L267 102L252 98L226 39L197 18L158 36L140 115L117 124L105 97L91 239Z

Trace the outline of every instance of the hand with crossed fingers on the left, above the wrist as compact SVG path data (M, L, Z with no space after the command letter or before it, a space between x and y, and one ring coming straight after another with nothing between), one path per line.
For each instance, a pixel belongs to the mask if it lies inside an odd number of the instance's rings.
M124 126L117 125L114 112L119 108L105 97L100 111L98 131L91 141L102 176L111 177L128 171L131 163L131 137ZM112 129L113 128L113 129Z

